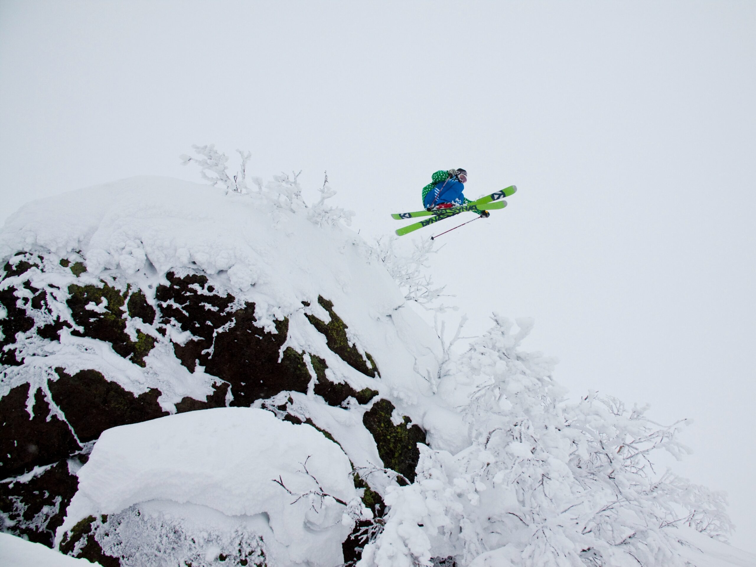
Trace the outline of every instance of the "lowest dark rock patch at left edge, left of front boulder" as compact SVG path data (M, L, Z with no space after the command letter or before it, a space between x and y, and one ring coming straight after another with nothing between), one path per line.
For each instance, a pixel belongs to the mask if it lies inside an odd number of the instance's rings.
M65 460L27 482L0 482L0 509L12 522L12 527L0 525L0 530L52 547L55 530L63 524L78 485Z

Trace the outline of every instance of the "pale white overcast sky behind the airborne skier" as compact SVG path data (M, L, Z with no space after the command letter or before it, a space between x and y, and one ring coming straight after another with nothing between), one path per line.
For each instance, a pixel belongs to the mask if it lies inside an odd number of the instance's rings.
M199 181L191 144L302 169L310 194L327 170L367 238L437 169L467 169L469 197L517 184L439 240L467 334L534 316L525 347L574 395L692 418L675 470L727 490L756 551L754 101L750 0L0 0L0 222L131 175Z

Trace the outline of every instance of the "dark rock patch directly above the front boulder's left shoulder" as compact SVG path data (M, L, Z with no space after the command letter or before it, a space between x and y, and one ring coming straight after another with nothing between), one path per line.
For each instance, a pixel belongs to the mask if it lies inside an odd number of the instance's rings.
M53 401L82 443L94 441L111 427L169 415L157 403L160 390L150 389L135 396L105 380L97 370L81 370L73 376L63 368L56 368L55 372L60 380L48 383Z

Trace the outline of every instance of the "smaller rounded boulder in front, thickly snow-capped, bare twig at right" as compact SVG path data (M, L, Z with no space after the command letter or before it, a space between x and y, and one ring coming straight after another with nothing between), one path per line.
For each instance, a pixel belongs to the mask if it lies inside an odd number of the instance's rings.
M79 470L62 529L84 520L93 531L62 548L76 553L94 537L122 565L150 565L156 549L171 550L163 564L197 564L242 548L238 559L252 563L338 565L361 519L351 470L314 427L249 407L115 427Z

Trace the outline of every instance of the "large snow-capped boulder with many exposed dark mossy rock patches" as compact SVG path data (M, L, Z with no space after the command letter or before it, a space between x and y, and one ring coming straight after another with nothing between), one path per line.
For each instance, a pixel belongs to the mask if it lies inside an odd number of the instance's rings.
M448 414L419 403L437 339L375 251L319 207L132 178L9 219L2 529L52 545L103 432L216 407L317 426L361 471L350 482L370 487L376 512L387 486L414 478L417 442ZM431 340L407 341L416 335Z

